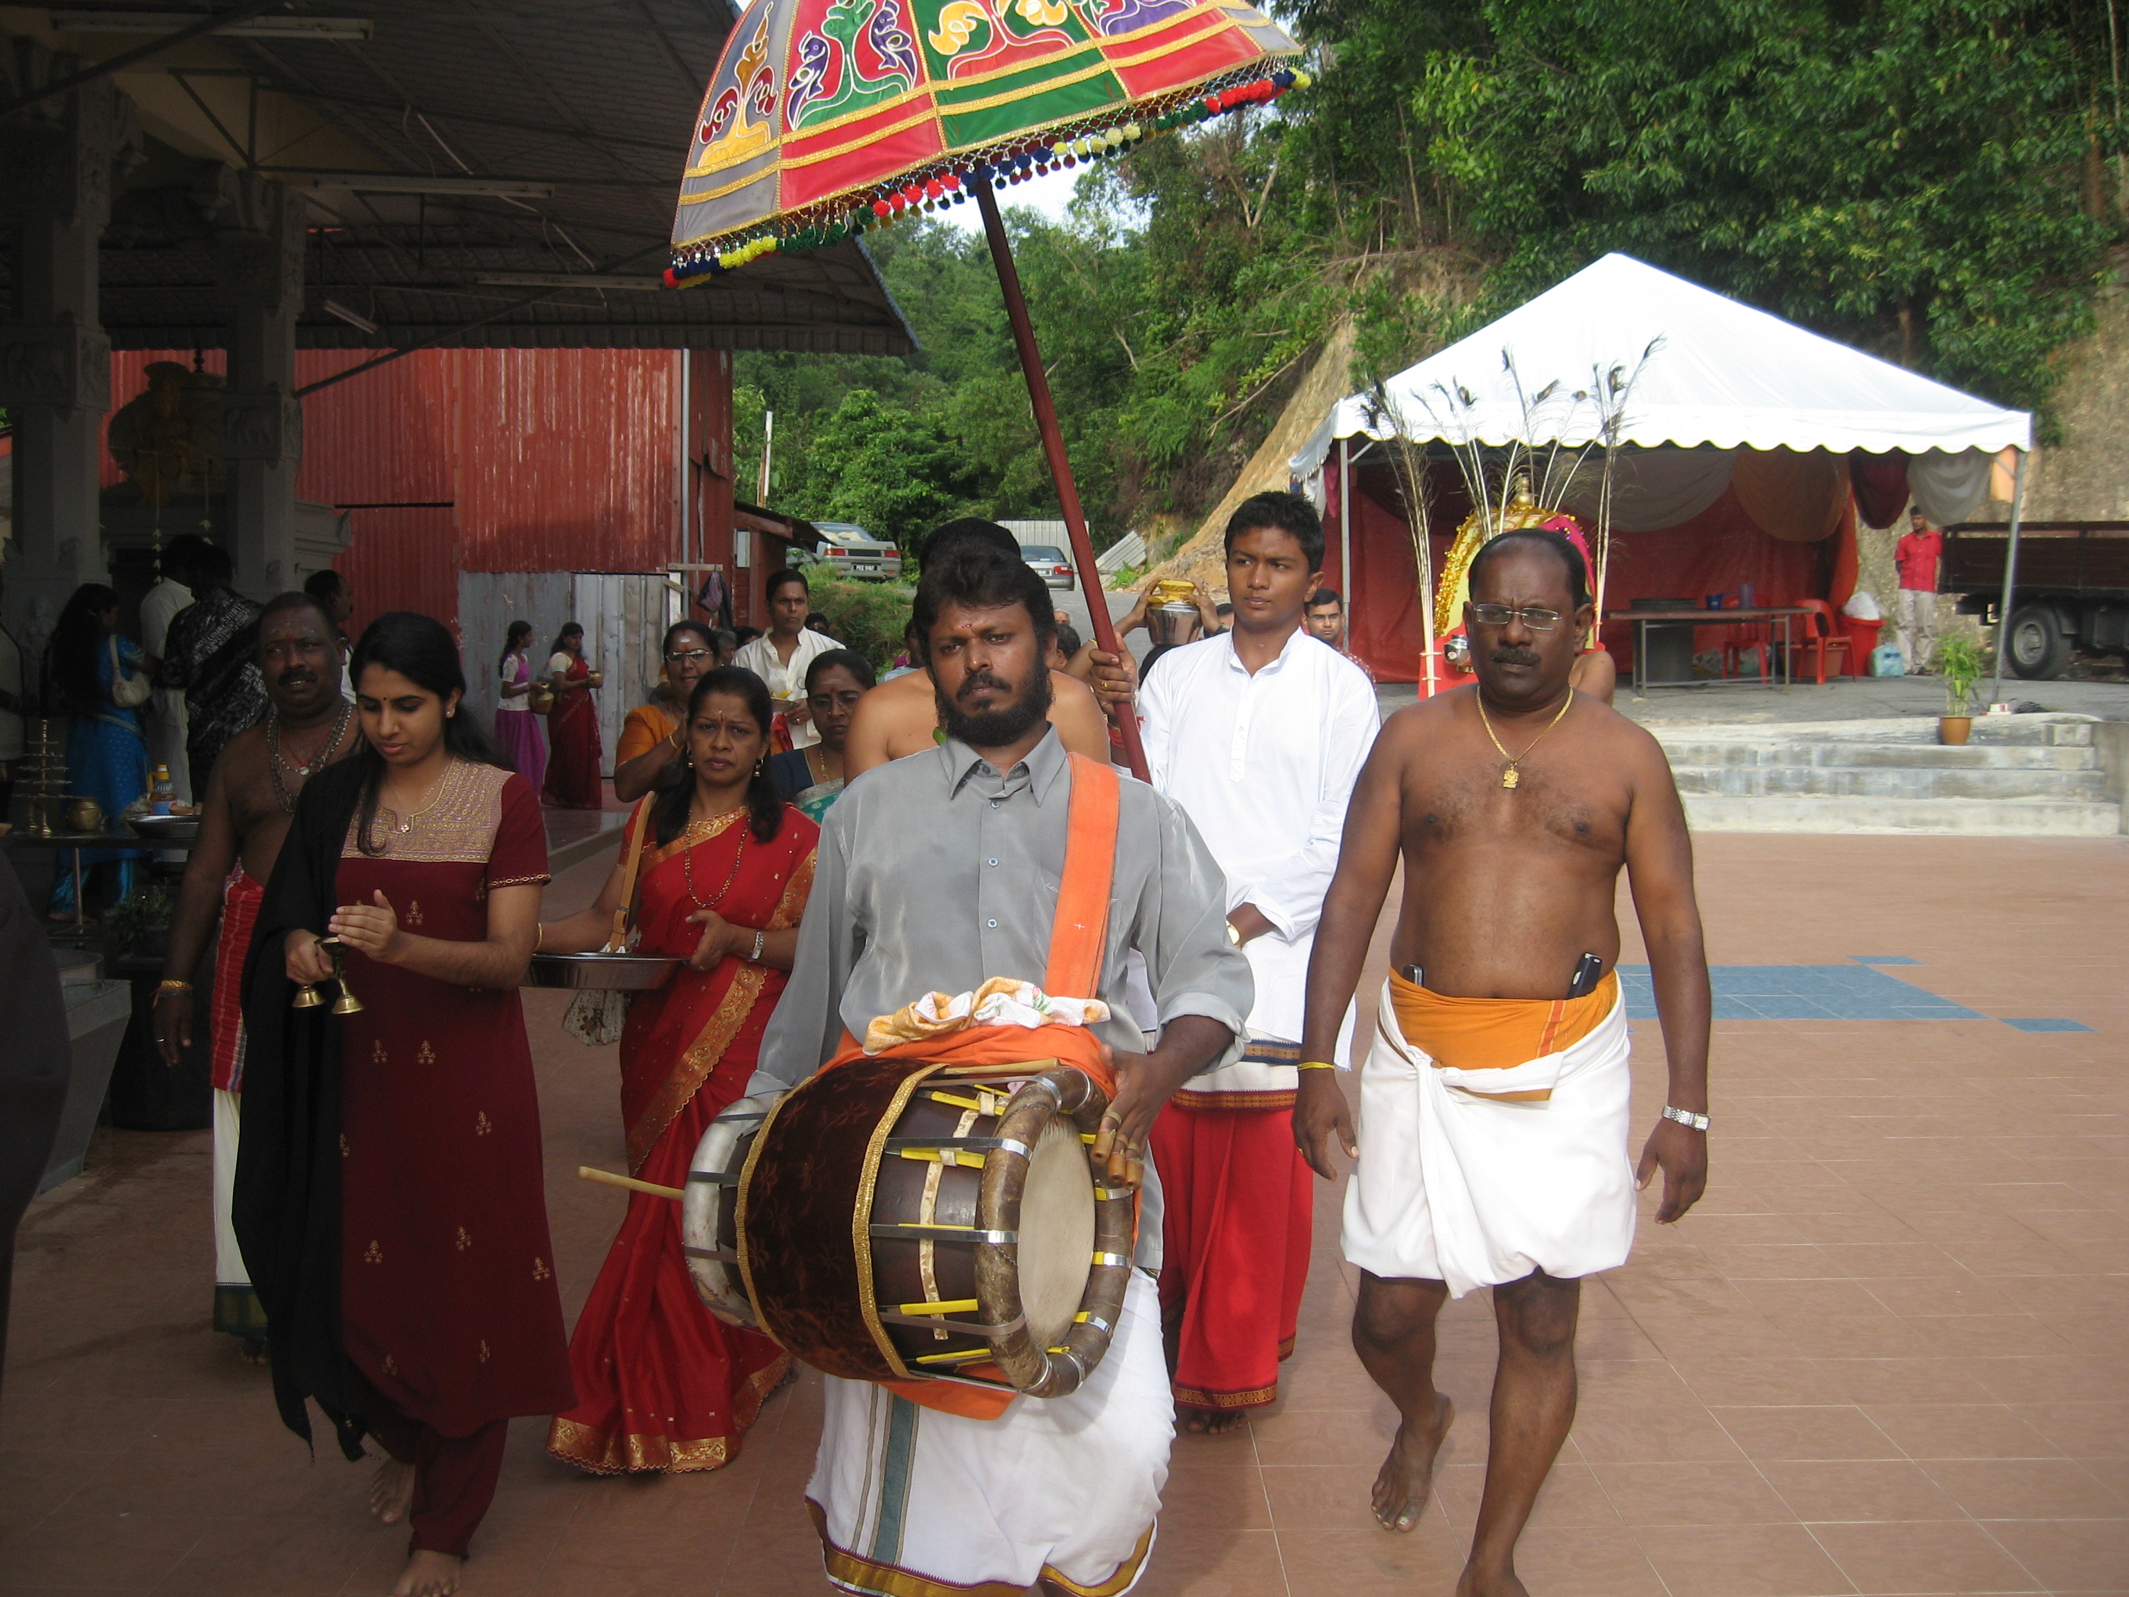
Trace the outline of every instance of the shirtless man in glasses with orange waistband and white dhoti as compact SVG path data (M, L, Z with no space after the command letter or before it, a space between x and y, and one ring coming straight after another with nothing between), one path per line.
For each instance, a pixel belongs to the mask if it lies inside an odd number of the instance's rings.
M1575 1412L1582 1275L1627 1261L1635 1190L1656 1222L1707 1180L1707 962L1693 847L1656 741L1567 684L1590 603L1556 532L1471 562L1478 684L1399 711L1354 788L1309 960L1294 1139L1326 1180L1360 1154L1328 1069L1399 854L1405 896L1373 1052L1365 1156L1346 1195L1360 1267L1352 1341L1403 1425L1375 1478L1386 1529L1420 1522L1452 1407L1435 1314L1492 1288L1492 1444L1460 1597L1520 1597L1516 1537ZM1669 1099L1629 1160L1627 1018L1614 890L1627 867L1654 967ZM1535 1112L1539 1109L1541 1112Z

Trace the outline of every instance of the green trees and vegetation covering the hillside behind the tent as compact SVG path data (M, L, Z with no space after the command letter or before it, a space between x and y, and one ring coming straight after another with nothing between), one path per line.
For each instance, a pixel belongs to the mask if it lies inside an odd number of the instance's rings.
M1292 0L1314 85L1009 211L1096 545L1610 249L2048 417L2125 236L2123 0ZM1007 196L1009 200L1009 196ZM745 492L907 543L1056 513L979 236L867 234L909 360L739 358Z

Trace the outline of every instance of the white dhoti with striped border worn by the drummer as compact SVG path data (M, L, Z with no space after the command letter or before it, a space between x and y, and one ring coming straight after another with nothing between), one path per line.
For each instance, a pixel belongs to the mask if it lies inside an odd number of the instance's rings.
M1107 1356L1071 1397L1016 1397L996 1420L969 1420L828 1378L805 1493L828 1580L867 1597L988 1597L1037 1580L1122 1597L1152 1550L1173 1437L1160 1299L1137 1269Z

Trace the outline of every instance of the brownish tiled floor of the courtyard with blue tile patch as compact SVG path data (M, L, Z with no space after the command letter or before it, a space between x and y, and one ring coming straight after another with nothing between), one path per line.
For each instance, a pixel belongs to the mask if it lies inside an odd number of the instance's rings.
M590 886L579 869L558 894ZM1710 837L1701 890L1710 956L1744 971L1724 990L1816 1007L1718 1022L1710 1195L1584 1295L1582 1410L1522 1544L1531 1591L2129 1593L2129 843ZM1820 973L1805 992L1799 969ZM1842 1018L1854 994L1974 1018ZM558 1035L556 994L528 1009L575 1310L620 1214L571 1180L620 1160L613 1067ZM1646 1120L1654 1022L1635 1043ZM204 1329L204 1137L119 1135L96 1158L23 1233L0 1591L383 1591L402 1540L362 1514L364 1471L313 1465ZM1460 1414L1424 1525L1392 1537L1367 1514L1392 1416L1346 1346L1328 1195L1316 1235L1284 1397L1177 1444L1148 1597L1454 1588L1486 1301L1443 1314ZM801 1382L730 1469L620 1482L549 1463L522 1422L464 1591L822 1591L798 1503L815 1429Z

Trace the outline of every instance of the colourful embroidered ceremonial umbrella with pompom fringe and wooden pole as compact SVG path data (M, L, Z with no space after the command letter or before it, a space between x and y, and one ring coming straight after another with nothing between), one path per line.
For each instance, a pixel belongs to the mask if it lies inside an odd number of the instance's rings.
M999 183L1265 104L1299 47L1235 0L754 0L732 26L673 221L675 287L975 194L1103 649L1120 652ZM1143 777L1135 718L1120 718Z

